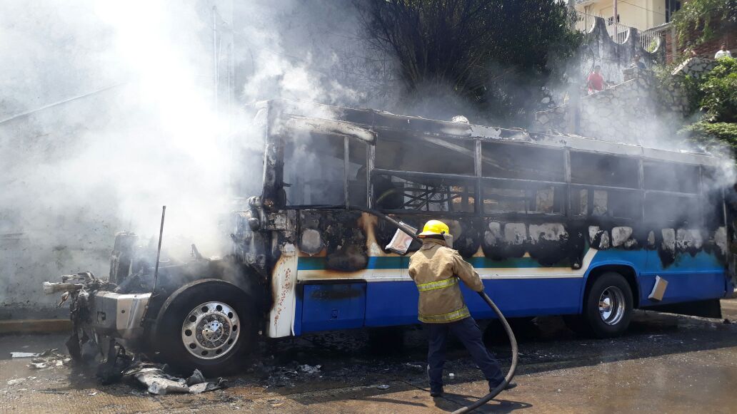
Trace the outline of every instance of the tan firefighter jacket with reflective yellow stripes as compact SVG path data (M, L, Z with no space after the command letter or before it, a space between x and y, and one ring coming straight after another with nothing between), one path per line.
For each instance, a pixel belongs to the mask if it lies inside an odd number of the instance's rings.
M483 290L473 266L442 240L425 239L410 257L409 274L419 290L418 319L426 324L447 324L471 315L459 279L477 292Z

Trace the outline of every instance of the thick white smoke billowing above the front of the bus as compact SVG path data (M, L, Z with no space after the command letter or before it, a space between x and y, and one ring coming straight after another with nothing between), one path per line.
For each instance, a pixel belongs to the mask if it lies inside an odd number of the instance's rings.
M0 318L52 304L60 273L105 276L115 232L155 236L164 204L165 246L222 254L232 178L261 179L234 157L262 150L241 104L366 101L349 4L272 3L3 1Z

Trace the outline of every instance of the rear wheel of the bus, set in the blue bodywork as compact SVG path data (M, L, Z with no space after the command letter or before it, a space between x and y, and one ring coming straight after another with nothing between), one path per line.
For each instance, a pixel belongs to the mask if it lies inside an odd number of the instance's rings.
M583 319L595 338L622 335L632 318L632 290L624 276L607 272L598 276L587 290Z

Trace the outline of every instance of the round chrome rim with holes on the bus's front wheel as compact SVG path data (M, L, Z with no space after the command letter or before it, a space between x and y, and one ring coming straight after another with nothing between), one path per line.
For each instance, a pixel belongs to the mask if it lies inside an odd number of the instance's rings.
M238 340L240 320L223 302L205 302L192 309L182 324L184 348L203 360L222 358Z

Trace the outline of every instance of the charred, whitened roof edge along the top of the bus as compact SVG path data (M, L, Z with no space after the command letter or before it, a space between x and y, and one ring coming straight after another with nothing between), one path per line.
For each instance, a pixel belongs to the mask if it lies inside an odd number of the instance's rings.
M723 162L707 152L671 151L629 143L616 143L579 135L529 132L495 126L438 121L397 115L381 110L336 107L289 99L273 99L254 104L268 111L268 132L283 135L289 130L305 133L348 136L374 145L377 139L414 135L444 140L481 140L518 143L559 149L573 149L694 165L716 166Z

